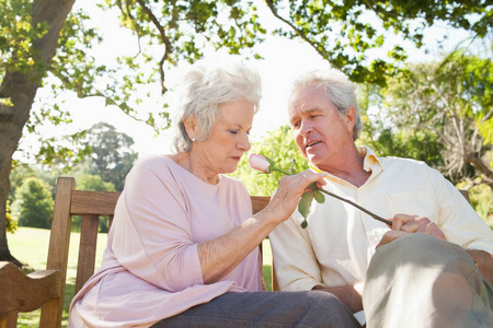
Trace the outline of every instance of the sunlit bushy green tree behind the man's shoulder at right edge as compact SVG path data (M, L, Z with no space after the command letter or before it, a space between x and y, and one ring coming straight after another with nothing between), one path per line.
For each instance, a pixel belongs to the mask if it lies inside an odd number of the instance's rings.
M437 62L412 65L393 79L383 93L383 113L393 125L392 137L406 142L422 137L425 142L415 143L416 150L439 151L438 168L455 184L468 180L493 189L492 143L483 134L493 121L492 90L492 60L458 50ZM440 161L434 156L432 162Z

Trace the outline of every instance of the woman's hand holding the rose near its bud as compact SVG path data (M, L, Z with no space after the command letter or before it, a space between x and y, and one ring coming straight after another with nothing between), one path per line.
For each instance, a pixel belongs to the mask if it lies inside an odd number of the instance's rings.
M325 173L316 173L310 169L283 176L271 202L262 212L268 213L268 216L275 219L277 224L287 220L296 210L301 196L309 190L307 187L312 183L316 183L318 188L324 186L326 184L324 177Z

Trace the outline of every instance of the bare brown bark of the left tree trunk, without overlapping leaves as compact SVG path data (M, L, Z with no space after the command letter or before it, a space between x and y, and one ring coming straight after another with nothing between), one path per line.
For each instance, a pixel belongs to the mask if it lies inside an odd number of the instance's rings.
M46 63L56 54L60 30L67 15L72 9L74 0L36 0L33 3L33 25L47 22L48 32L33 43L36 62ZM9 175L12 168L12 155L15 152L22 130L26 124L37 89L41 86L45 72L20 73L5 71L0 85L0 97L10 98L13 106L0 104L0 260L13 261L7 244L5 206L9 195Z

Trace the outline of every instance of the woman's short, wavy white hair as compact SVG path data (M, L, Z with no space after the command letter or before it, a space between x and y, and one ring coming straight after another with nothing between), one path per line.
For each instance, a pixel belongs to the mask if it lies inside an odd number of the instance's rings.
M206 141L219 118L219 105L246 101L259 110L261 99L261 78L259 72L234 61L213 62L198 60L185 72L179 84L176 97L173 148L176 152L188 152L192 140L184 121L195 116L200 130L198 140Z

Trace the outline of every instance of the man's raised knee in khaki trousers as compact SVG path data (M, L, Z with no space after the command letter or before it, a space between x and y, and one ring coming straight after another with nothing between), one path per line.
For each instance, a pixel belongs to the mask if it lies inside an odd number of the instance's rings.
M414 317L405 319L414 327L456 327L449 323L471 318L491 323L489 307L483 306L488 302L479 297L484 289L482 282L477 266L460 246L424 234L409 234L379 247L371 259L364 291L365 313L375 327L401 320L408 315L406 307L431 313L423 319L433 318L433 325L414 323ZM479 305L471 309L471 304Z

